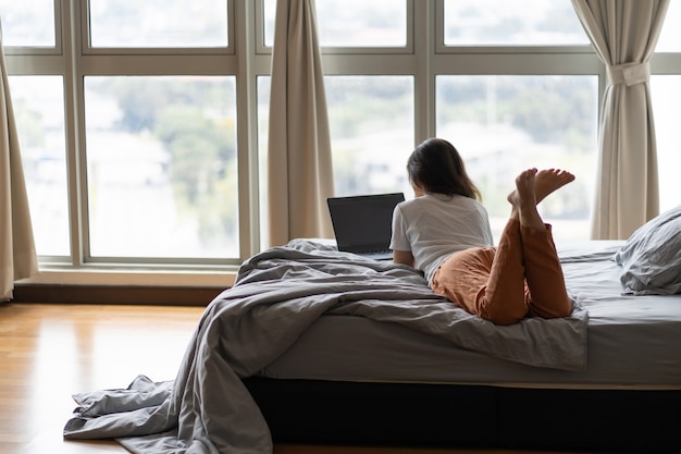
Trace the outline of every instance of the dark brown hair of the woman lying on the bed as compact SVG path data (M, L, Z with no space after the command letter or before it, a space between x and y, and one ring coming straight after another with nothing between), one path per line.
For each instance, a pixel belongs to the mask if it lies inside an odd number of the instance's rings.
M466 173L459 151L442 138L421 143L407 161L409 180L426 193L460 195L481 201L480 189Z

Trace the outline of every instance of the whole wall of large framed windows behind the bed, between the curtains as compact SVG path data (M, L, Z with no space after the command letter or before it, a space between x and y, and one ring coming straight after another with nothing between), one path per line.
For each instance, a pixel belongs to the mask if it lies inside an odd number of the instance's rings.
M557 240L589 237L605 69L569 0L315 4L338 195L412 197L406 159L441 136L463 155L495 236L515 173L556 165L578 181L543 214ZM652 64L663 209L681 203L679 4ZM275 10L0 0L44 270L219 280L267 244Z

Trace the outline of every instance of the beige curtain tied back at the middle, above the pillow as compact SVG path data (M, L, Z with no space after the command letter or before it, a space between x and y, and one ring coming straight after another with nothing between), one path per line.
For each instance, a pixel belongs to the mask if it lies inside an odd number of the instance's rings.
M659 213L649 60L669 0L572 0L607 65L592 237L627 238Z

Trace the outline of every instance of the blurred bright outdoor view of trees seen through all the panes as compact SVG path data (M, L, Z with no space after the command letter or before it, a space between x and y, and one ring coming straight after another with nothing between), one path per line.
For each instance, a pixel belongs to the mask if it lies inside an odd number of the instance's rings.
M498 37L512 36L512 45L587 44L569 1L522 2L535 8L518 10L532 14L516 15L516 9L500 8L496 1L446 0L445 9L457 11L448 16L466 16L468 24L460 33L457 21L445 24L446 42L492 46L498 45ZM186 0L91 0L97 14L92 27L101 26L97 39L102 46L120 45L104 32L114 34L122 16L132 20L138 8L140 14L143 10L168 11L173 17L169 23L175 24L178 5L184 3ZM221 11L226 12L226 1L203 3L203 20L210 24L205 29L164 33L163 14L153 21L141 14L147 19L138 25L153 27L152 44L143 44L172 47L177 40L185 42L186 34L206 33L208 36L191 38L191 46L226 46L226 29L224 34L215 32L226 27L226 17L224 24L212 17L223 7ZM274 0L263 3L265 44L273 36L274 4ZM318 0L317 5L322 46L405 46L404 1ZM10 7L24 15L30 13L23 2L0 0L0 12ZM503 15L497 14L499 8ZM387 14L392 9L397 13ZM198 15L201 9L191 12ZM352 15L359 20L351 22L350 33L342 24L348 24ZM5 36L12 35L11 24L4 26ZM25 28L20 32L28 33ZM17 41L21 38L11 40ZM12 75L10 85L38 253L69 256L70 232L78 218L69 208L70 191L75 186L69 186L67 175L77 165L66 159L64 81L61 76ZM398 191L412 197L405 165L417 145L416 118L420 113L416 85L413 75L325 76L336 195ZM679 185L670 173L681 164L677 145L681 137L676 126L679 86L681 76L652 77L663 209L680 203ZM435 77L434 90L436 135L450 140L462 155L483 193L495 238L508 217L506 196L512 179L528 167L560 167L578 175L569 189L542 204L542 212L555 225L558 241L589 237L598 161L596 75L442 74ZM236 76L85 76L83 99L84 147L78 158L85 171L76 180L84 184L82 201L87 218L83 226L89 255L238 257ZM268 112L269 77L261 77L261 183L267 179L262 157L267 155ZM267 192L261 191L260 197L264 206Z

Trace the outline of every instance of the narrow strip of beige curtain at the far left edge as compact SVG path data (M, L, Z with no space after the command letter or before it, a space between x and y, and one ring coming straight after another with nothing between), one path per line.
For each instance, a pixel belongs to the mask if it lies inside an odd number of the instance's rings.
M0 27L0 302L14 281L38 272L28 197L18 149Z

